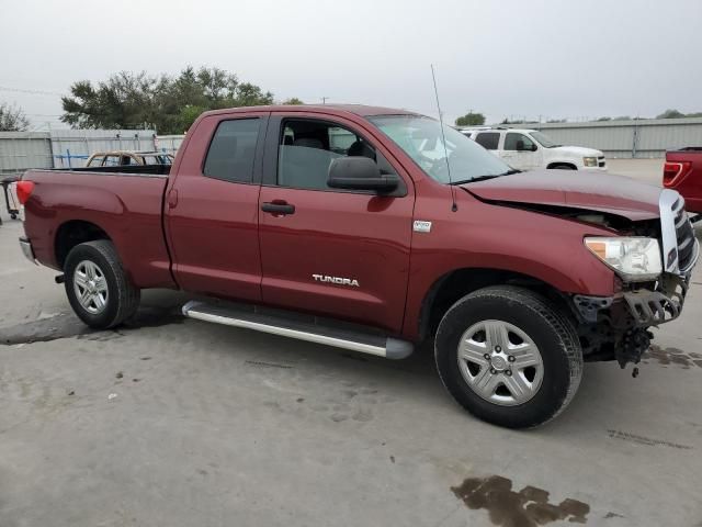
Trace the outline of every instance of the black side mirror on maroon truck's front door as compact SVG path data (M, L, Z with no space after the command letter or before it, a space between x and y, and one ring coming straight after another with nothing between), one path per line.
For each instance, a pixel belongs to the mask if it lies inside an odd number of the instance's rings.
M383 176L376 162L367 157L338 157L329 165L327 184L332 189L388 193L397 189L398 183L396 176Z

